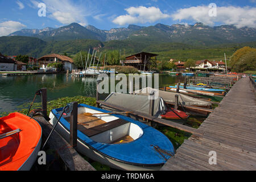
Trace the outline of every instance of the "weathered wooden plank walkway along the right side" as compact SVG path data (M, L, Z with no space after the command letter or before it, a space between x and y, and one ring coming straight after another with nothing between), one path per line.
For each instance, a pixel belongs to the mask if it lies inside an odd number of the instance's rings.
M249 78L237 81L198 129L203 137L185 140L161 170L255 170L255 104ZM210 151L217 154L216 165L209 164Z

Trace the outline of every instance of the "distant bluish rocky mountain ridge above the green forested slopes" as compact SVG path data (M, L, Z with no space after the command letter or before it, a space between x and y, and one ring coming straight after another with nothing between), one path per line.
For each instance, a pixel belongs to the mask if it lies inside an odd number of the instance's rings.
M23 29L9 36L31 36L44 41L93 39L101 42L111 40L135 40L139 42L177 42L191 46L212 46L223 43L243 43L256 41L256 28L237 28L233 25L209 27L203 23L194 25L156 24L142 27L129 25L127 28L100 30L94 26L71 23L59 28Z

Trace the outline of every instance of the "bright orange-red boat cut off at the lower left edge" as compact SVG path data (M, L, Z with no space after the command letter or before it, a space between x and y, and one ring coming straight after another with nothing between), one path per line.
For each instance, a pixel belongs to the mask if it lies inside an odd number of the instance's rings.
M20 113L0 118L0 171L28 171L41 147L42 128Z

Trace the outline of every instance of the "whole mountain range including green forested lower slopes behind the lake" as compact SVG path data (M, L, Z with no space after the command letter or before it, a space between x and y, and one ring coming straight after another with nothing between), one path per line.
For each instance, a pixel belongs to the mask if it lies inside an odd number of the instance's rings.
M41 57L50 53L67 53L97 48L100 51L118 50L123 56L138 52L158 54L160 60L223 59L224 52L232 56L237 49L256 47L256 28L235 26L209 27L194 25L156 24L142 27L100 30L78 23L59 28L23 29L0 37L0 52L4 55L30 55Z

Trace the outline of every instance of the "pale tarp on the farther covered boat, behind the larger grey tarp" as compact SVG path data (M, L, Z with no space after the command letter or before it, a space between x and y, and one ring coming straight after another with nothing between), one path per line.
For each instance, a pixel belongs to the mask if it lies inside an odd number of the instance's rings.
M141 96L148 96L150 93L155 92L156 95L163 98L164 101L167 102L175 102L175 95L179 95L179 103L182 105L190 105L190 106L210 106L209 102L201 101L197 98L189 97L181 93L174 93L174 92L165 92L162 90L154 89L154 88L144 88L141 90L137 90L134 93ZM158 92L158 93L157 93Z

